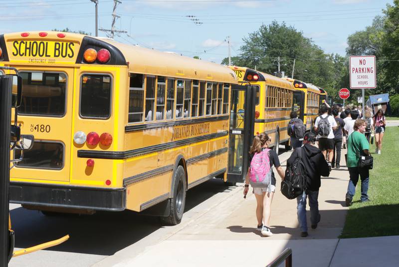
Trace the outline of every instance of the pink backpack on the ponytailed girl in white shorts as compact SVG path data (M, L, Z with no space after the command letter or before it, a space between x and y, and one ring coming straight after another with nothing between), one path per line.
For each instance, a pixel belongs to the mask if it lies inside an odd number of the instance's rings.
M249 167L249 181L252 187L268 187L269 192L271 184L271 168L268 152L270 149L265 148L259 153L253 155L251 165Z

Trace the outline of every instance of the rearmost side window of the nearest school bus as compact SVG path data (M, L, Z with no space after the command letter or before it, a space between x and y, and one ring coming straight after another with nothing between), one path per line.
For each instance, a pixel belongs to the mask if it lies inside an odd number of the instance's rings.
M144 75L130 73L128 122L143 121Z

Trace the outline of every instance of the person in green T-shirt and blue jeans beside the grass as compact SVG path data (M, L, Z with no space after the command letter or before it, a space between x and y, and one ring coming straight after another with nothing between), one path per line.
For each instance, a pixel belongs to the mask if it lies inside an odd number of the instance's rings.
M347 166L349 171L348 191L345 196L345 204L347 207L352 205L352 199L355 195L356 185L360 180L362 181L362 196L361 202L370 201L367 191L369 190L369 168L358 167L358 162L361 156L369 156L369 142L367 142L364 132L366 130L366 121L357 119L354 125L355 131L348 137L348 155Z

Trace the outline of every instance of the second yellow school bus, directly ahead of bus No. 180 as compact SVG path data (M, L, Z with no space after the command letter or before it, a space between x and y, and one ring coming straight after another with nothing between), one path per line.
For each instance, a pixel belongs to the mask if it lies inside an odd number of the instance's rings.
M266 132L272 139L271 146L278 153L279 145L289 148L287 125L293 105L293 84L286 79L278 78L246 67L231 66L240 84L255 87L255 108L253 117L253 135Z

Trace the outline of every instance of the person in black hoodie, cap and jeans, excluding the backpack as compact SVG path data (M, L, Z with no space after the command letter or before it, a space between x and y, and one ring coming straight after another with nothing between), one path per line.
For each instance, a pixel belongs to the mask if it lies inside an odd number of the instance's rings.
M296 149L287 160L287 169L294 164L295 159L301 153L301 159L306 169L306 190L297 197L297 216L299 227L301 228L301 237L308 236L308 225L306 221L306 199L309 197L310 222L312 229L317 228L321 216L319 213L319 188L321 186L320 176L329 176L329 166L324 155L315 146L316 135L307 132L303 138L303 146Z

